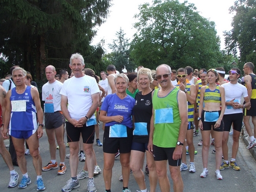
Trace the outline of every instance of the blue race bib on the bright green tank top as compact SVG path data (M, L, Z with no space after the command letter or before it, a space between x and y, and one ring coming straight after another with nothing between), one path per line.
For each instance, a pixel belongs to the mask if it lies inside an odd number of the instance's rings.
M155 124L173 123L174 114L173 108L164 108L155 110Z

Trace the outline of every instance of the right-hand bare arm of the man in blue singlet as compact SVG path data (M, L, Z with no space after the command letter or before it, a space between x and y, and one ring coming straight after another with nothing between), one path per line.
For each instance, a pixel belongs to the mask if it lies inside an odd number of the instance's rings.
M36 115L37 115L38 122L39 122L39 124L42 124L42 120L44 119L44 113L42 112L40 97L39 97L37 88L35 88L35 87L31 88L31 96L35 103ZM37 129L37 137L41 138L43 133L44 132L42 131L42 126L39 125L38 129Z

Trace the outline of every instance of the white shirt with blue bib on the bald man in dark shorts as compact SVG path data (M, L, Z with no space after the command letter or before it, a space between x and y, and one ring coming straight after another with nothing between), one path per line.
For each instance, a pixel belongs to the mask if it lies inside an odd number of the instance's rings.
M42 100L45 101L45 113L54 113L61 111L60 108L60 90L62 83L55 80L53 83L45 83L42 86ZM32 87L32 86L31 86Z

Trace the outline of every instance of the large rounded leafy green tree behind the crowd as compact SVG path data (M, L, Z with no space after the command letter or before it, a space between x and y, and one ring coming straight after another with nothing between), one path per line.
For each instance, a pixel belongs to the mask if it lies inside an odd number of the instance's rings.
M218 65L221 53L215 23L200 16L194 4L156 0L139 10L131 45L137 65L151 69L162 63L174 69Z

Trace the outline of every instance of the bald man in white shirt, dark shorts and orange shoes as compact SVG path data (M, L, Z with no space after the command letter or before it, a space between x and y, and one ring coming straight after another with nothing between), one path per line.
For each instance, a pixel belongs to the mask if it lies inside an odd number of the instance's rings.
M46 172L47 170L58 168L58 163L56 162L56 137L60 156L58 175L63 175L67 169L65 165L66 146L63 141L65 118L60 109L60 90L62 88L62 83L55 79L55 75L55 67L47 66L46 78L48 82L42 86L42 100L45 101L45 127L48 136L51 160L46 166L42 167L42 170Z

